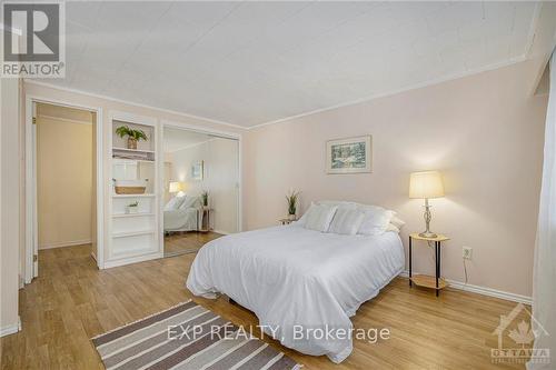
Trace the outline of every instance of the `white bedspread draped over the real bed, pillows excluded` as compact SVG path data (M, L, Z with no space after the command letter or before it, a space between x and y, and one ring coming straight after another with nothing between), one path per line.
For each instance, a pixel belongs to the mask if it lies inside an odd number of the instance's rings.
M351 338L299 339L299 332L353 328L349 317L403 271L404 259L395 232L339 236L292 224L207 243L191 266L187 288L205 298L225 293L254 311L259 324L268 326L265 332L284 346L341 362L353 350Z

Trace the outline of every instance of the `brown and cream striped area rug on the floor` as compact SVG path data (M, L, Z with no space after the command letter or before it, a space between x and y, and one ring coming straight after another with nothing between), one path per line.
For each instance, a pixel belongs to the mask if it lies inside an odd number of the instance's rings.
M92 339L107 369L287 370L301 366L189 300Z

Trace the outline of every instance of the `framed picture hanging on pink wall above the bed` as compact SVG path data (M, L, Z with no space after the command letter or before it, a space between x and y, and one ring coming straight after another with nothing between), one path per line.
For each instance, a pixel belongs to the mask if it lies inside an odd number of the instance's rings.
M373 171L373 137L329 140L326 142L327 173L364 173Z

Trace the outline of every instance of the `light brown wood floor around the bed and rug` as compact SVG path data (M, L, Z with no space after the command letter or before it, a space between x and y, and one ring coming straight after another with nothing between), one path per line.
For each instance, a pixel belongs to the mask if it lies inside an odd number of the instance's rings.
M90 338L191 298L185 288L195 254L98 271L90 247L40 251L40 277L20 291L23 330L0 339L2 369L99 369ZM256 317L228 303L193 298L237 324ZM340 364L282 348L305 369L523 369L490 363L493 330L514 303L449 288L439 298L397 278L361 306L355 328L389 328L391 339L355 341Z

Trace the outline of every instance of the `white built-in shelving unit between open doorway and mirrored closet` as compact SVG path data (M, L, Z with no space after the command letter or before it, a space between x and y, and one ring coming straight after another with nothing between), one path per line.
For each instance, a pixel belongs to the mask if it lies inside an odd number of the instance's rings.
M158 156L157 121L122 112L111 114L110 153L110 237L106 267L113 267L161 257L158 238ZM116 134L120 126L146 132L148 140L139 141L137 149L127 148L127 138ZM145 186L145 193L118 194L116 182L137 181ZM136 204L130 207L131 204ZM131 211L132 209L132 211ZM159 256L160 254L160 256Z

